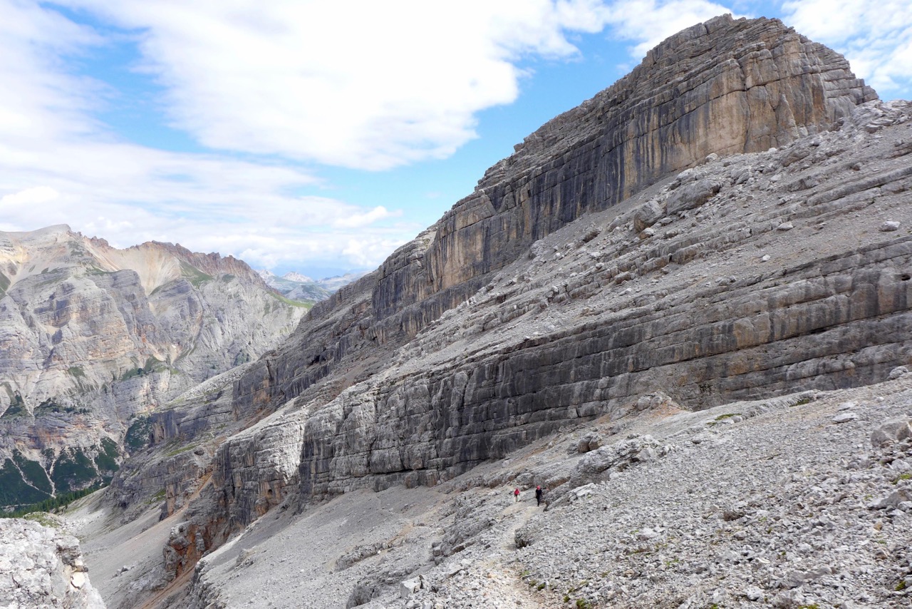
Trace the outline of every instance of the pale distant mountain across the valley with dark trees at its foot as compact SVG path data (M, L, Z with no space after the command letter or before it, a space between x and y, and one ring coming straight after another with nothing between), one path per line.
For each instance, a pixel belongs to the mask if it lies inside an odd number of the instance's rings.
M0 234L0 288L0 505L110 478L134 417L257 358L304 312L233 257L67 226Z

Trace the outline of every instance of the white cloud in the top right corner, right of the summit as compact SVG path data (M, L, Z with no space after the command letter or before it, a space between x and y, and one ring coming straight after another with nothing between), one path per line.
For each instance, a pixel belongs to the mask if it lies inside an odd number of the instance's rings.
M782 10L786 23L843 53L855 74L886 99L912 83L908 0L801 0L783 3Z

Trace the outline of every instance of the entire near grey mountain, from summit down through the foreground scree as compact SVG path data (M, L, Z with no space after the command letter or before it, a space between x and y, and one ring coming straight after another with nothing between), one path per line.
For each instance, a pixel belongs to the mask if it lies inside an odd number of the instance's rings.
M668 38L150 415L103 499L163 519L137 585L174 607L900 606L910 142L908 102L778 20ZM554 519L503 506L538 485Z

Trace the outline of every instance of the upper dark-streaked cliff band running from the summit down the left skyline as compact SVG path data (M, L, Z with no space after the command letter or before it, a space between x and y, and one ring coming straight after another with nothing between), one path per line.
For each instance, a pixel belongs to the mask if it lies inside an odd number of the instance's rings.
M377 273L320 303L294 349L242 380L239 403L281 403L339 365L369 370L358 362L377 357L375 348L397 348L581 215L712 153L761 152L829 130L874 99L845 58L777 19L720 16L689 27L527 137Z

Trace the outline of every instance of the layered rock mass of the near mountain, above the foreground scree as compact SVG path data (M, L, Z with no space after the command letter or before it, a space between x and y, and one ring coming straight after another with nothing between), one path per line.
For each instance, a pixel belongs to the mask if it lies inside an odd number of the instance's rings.
M777 21L663 43L244 372L234 416L258 422L181 536L436 484L643 394L700 409L910 363L912 112L872 97Z

